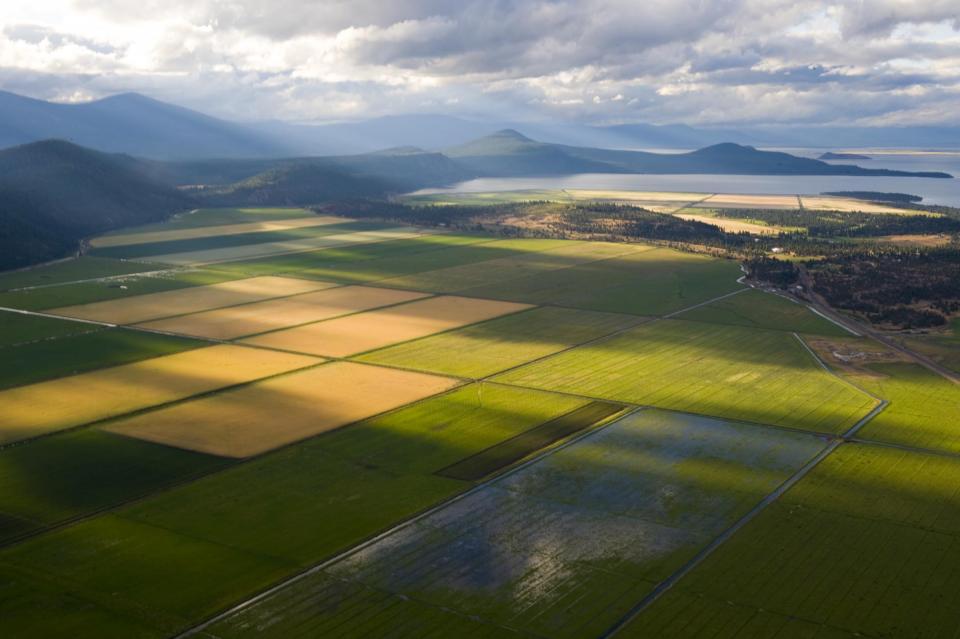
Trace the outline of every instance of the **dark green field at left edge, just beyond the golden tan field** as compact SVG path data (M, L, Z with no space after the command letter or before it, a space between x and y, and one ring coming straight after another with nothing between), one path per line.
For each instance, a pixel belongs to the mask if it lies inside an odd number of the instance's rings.
M89 324L79 324L90 327ZM97 329L0 350L0 389L138 362L204 346L185 337Z

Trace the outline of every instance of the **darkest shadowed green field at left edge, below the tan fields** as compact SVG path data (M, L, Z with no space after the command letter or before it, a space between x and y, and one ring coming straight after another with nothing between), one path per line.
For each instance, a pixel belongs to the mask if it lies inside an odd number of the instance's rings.
M226 463L93 429L0 450L0 543ZM4 518L19 522L18 529L4 530Z

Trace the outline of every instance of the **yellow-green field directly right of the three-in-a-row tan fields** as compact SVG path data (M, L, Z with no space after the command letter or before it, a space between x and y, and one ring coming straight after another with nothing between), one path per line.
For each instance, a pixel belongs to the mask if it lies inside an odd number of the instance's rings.
M542 307L390 346L359 359L480 378L644 321L633 315Z

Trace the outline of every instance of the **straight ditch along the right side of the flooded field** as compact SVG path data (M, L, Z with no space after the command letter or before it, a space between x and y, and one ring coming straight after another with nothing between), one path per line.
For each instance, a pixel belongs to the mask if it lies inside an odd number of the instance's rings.
M884 408L887 407L889 402L886 400L883 401L879 406L874 407L872 411L863 416L856 424L854 424L850 429L848 429L843 435L839 437L834 437L832 440L821 450L819 453L814 455L810 461L804 464L799 470L797 470L793 475L788 477L783 483L781 483L773 492L768 494L766 497L760 500L753 508L751 508L745 515L740 519L734 522L729 528L720 533L717 537L714 538L707 546L702 548L696 555L694 555L689 561L687 561L683 566L681 566L676 572L672 575L661 581L656 588L653 589L646 597L641 599L630 611L627 612L623 617L621 617L616 623L610 626L602 634L599 635L598 639L608 639L609 637L615 636L621 630L623 630L631 621L636 619L650 607L655 601L662 597L668 590L673 588L681 579L687 576L692 572L697 566L703 563L710 555L717 551L724 543L730 540L736 533L738 533L744 526L753 521L760 513L767 509L768 506L777 501L782 497L788 490L793 488L797 483L800 482L804 477L810 474L814 468L816 468L824 459L829 457L837 448L842 444L846 443L849 437L852 437L856 434L858 430L863 428L870 420L876 417Z

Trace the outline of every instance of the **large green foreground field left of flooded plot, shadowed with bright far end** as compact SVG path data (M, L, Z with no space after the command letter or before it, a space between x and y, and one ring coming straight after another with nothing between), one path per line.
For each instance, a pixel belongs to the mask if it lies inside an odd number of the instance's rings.
M0 550L4 629L169 637L469 488L434 473L584 403L468 386L23 541Z

